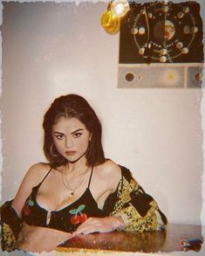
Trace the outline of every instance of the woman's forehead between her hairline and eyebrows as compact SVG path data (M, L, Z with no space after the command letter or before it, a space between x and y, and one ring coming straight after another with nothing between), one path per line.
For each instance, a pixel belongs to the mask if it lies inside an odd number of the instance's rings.
M65 118L64 116L59 117L56 123L52 126L53 131L74 131L79 128L85 128L85 125L82 121L79 121L77 118Z

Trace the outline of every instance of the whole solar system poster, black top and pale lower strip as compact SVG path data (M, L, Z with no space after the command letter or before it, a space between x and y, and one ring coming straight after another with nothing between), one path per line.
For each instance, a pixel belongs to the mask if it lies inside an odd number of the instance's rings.
M119 85L202 86L202 36L195 1L131 2L120 23ZM150 72L161 81L148 78Z

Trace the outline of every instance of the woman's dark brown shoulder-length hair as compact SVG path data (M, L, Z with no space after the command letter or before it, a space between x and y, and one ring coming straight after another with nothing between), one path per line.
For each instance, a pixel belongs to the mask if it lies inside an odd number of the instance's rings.
M68 163L64 156L58 153L52 139L52 126L59 117L76 118L92 134L88 149L85 152L87 166L95 166L105 162L101 143L102 128L98 116L88 102L77 94L60 96L51 103L51 107L44 114L44 156L52 168Z

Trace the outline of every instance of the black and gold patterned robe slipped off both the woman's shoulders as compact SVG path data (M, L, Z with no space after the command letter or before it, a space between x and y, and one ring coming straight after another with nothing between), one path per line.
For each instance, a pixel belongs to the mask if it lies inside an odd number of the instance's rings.
M2 249L7 252L16 249L18 234L22 229L22 221L11 204L12 200L1 206ZM121 167L118 187L106 198L103 211L105 217L121 216L126 224L126 232L166 229L166 216L125 167Z

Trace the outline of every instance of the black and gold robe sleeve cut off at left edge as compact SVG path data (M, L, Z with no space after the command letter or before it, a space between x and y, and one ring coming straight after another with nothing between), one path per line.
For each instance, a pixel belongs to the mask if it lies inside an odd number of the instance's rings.
M16 249L17 237L22 228L21 219L11 204L12 200L1 206L1 246L7 252Z

